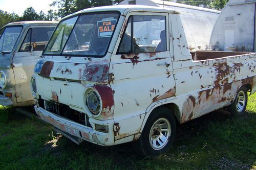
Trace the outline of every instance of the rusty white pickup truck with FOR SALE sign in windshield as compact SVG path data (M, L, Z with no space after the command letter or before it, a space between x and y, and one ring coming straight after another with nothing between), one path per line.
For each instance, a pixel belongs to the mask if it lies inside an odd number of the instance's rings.
M35 66L35 110L76 143L136 141L143 155L164 154L176 124L225 106L243 113L256 90L256 54L188 49L176 11L79 11L58 23Z

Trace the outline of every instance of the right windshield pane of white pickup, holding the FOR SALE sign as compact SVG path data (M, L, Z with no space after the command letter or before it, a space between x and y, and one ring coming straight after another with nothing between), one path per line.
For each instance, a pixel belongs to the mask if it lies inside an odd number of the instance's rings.
M103 56L118 16L117 13L81 15L62 54Z

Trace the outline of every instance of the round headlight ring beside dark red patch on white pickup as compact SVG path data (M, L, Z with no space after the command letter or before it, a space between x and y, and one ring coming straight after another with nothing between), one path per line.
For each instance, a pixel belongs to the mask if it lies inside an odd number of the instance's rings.
M92 101L88 101L90 98L90 95L95 95L98 103L99 103L99 107L97 110L93 110L92 108L90 108L90 103ZM88 88L87 90L84 91L84 98L83 98L83 103L86 106L86 110L87 112L89 112L89 114L91 114L93 117L98 117L102 111L102 101L100 98L100 95L98 93L98 91L92 87Z

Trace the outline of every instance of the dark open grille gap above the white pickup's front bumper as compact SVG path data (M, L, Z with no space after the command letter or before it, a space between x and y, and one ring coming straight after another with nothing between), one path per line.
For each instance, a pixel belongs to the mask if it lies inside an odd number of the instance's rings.
M92 128L87 114L71 109L67 105L63 105L57 102L45 101L45 100L42 100L41 98L39 98L38 104L41 108L44 108L47 111L50 111L54 114L73 120L74 122L81 124L83 126Z

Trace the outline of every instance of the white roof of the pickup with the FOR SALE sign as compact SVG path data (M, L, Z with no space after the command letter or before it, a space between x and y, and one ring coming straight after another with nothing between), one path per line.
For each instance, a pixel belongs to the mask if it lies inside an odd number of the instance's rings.
M152 7L145 5L114 5L114 6L103 6L103 7L95 7L95 8L87 8L76 13L70 14L66 17L63 17L61 20L76 16L82 13L88 12L105 12L105 11L119 11L122 15L126 15L131 11L147 11L147 12L164 12L164 13L177 13L174 10L170 10L169 8L163 7Z

